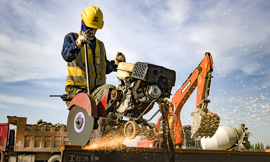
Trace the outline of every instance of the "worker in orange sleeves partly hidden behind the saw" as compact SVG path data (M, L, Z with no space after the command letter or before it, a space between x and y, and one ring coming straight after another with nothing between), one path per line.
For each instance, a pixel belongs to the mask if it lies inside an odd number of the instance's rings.
M176 149L182 148L183 143L183 130L182 130L182 124L177 115L174 114L174 105L170 104L170 102L167 100L167 98L164 99L166 104L164 105L165 109L167 110L166 114L168 115L168 121L169 121L169 127L170 127L170 135L173 140L173 147ZM162 146L162 140L163 140L163 124L162 124L162 116L158 119L158 122L156 124L158 128L158 134L157 134L157 140L159 140L159 145Z

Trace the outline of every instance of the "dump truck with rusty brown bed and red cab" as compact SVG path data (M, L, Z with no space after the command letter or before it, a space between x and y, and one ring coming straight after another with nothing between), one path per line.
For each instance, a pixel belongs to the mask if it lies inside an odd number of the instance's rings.
M60 146L69 144L67 126L31 125L26 124L27 118L16 116L7 119L8 123L0 123L1 162L60 161ZM9 125L16 126L16 133ZM99 130L95 130L90 140L99 137Z

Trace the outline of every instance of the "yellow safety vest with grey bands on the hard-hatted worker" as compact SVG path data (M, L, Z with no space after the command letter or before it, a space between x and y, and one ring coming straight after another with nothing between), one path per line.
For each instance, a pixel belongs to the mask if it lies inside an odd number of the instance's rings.
M80 33L74 33L75 37L78 38ZM92 52L89 44L87 44L88 51L88 63L89 63L89 74L90 74L90 86L91 89L97 85L106 84L106 59L105 59L105 48L103 42L96 39L95 55ZM85 54L84 47L81 48L79 54L72 62L67 63L67 78L65 87L67 85L76 85L87 89L86 82L86 70L85 70Z

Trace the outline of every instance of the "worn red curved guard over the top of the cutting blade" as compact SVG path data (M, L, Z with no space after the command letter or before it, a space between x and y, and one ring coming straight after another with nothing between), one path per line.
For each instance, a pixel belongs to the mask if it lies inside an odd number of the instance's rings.
M71 110L71 108L77 105L87 110L88 116L92 116L94 118L98 117L97 105L95 99L88 95L87 93L79 93L77 94L70 102L67 107L67 110Z

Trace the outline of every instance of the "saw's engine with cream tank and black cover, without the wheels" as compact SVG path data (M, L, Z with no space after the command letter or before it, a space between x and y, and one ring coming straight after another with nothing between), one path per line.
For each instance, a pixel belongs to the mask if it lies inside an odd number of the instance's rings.
M145 62L121 62L117 68L117 78L120 84L111 92L112 100L117 102L110 106L110 112L116 112L119 118L134 119L149 112L153 107L150 104L155 99L170 98L176 73Z

